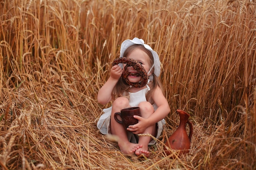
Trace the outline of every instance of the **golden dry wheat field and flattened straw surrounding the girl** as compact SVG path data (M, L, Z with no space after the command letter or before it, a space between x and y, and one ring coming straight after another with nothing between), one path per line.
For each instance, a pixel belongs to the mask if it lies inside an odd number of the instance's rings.
M0 0L0 166L255 169L255 16L255 0ZM97 91L133 37L159 53L171 106L148 159L96 127ZM178 108L194 135L189 155L170 159Z

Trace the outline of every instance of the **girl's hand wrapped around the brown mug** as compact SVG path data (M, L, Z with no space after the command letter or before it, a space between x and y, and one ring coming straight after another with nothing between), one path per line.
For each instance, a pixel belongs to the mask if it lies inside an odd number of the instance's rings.
M142 134L145 132L146 128L148 128L147 119L140 117L140 116L133 116L135 119L139 120L139 123L135 125L130 125L127 130L131 131L134 134Z

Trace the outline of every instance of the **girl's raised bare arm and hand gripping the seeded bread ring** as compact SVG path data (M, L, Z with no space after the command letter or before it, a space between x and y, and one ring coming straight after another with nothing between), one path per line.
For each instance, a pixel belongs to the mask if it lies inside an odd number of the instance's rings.
M119 78L121 77L123 70L120 66L112 66L110 70L110 77L107 82L99 89L97 100L100 104L107 104L112 99L111 94L113 88L117 84Z

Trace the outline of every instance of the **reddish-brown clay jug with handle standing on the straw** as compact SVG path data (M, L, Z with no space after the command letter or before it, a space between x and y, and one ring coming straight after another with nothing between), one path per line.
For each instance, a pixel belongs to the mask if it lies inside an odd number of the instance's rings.
M180 124L177 130L171 135L166 141L166 146L169 149L179 150L179 156L182 154L186 154L190 149L191 137L193 134L193 126L189 121L190 115L183 110L177 110L180 115ZM189 135L186 132L186 124L189 124ZM164 151L166 155L170 155L171 152L168 148L164 147Z

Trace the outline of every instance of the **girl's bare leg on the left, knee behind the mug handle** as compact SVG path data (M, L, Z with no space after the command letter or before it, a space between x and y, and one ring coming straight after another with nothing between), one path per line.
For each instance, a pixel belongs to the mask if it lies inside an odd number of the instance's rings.
M110 117L110 130L111 134L117 135L119 137L118 139L118 146L121 150L121 152L124 152L125 154L132 155L135 153L136 150L142 147L141 144L132 144L130 141L128 141L127 138L127 130L124 128L122 124L119 124L117 121L115 121L114 114L116 112L120 112L123 108L130 107L129 101L125 97L119 97L117 98L113 104L112 104L112 112Z

